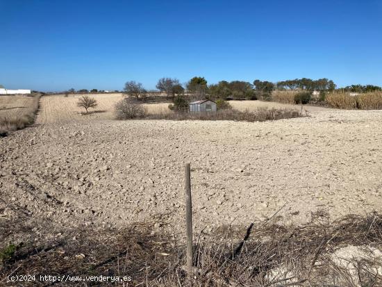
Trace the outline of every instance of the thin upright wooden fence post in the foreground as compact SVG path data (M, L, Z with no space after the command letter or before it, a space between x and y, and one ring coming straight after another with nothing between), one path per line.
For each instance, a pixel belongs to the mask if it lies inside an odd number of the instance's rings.
M188 272L192 272L192 200L190 163L185 164L185 224L187 236L187 264Z

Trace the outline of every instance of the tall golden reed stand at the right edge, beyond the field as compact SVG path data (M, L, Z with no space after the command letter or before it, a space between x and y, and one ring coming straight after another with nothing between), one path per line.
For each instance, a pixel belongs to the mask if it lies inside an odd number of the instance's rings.
M333 108L380 110L382 92L367 92L351 96L349 92L331 92L326 95L326 103Z

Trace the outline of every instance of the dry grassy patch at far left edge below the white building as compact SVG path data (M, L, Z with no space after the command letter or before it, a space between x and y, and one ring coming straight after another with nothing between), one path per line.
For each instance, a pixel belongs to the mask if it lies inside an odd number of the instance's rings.
M39 101L40 94L0 97L0 133L6 134L33 124Z

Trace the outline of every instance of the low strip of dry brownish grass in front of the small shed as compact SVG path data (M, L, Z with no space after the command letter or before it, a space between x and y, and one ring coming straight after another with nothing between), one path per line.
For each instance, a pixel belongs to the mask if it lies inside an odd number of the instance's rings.
M156 113L148 115L151 120L233 120L239 122L264 122L267 120L290 119L304 117L306 114L290 108L258 108L249 110L217 110L215 113L189 113L188 110L172 113Z

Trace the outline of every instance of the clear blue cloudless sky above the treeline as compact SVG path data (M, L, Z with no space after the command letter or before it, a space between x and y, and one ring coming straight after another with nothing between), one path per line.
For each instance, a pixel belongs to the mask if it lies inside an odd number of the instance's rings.
M155 88L307 77L382 85L382 1L0 0L0 84Z

